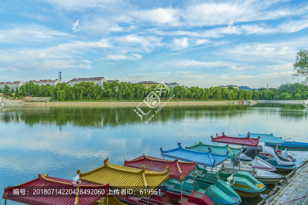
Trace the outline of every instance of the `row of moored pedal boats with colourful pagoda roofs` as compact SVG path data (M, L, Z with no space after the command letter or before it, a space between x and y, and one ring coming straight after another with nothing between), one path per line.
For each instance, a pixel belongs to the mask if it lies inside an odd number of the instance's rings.
M211 137L214 142L247 146L232 148L202 144L183 148L181 143L174 149L161 151L166 160L151 156L142 156L124 161L124 165L113 165L109 159L104 165L90 172L77 171L79 181L49 177L48 174L22 184L26 189L31 186L57 187L71 190L63 199L61 194L40 193L40 197L13 195L16 186L6 188L4 199L26 204L168 204L168 205L236 205L241 204L241 197L253 198L266 190L264 184L276 183L285 177L273 171L294 166L292 159L284 150L279 155L274 149L258 146L259 141L274 140L271 135L252 138L245 136ZM254 134L253 134L254 135ZM180 161L181 160L181 161ZM283 167L284 166L284 167ZM33 184L34 183L34 184ZM59 187L60 186L60 187ZM92 195L81 195L82 190L93 191ZM101 191L99 191L101 190ZM104 190L104 193L102 192ZM117 190L131 190L122 192ZM77 193L79 192L79 193ZM58 198L57 198L58 197Z

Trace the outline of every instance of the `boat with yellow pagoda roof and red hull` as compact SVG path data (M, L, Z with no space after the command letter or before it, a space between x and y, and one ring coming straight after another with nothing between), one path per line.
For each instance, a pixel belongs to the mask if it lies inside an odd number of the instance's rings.
M149 171L145 166L142 169L112 165L109 159L104 160L104 165L90 172L77 174L82 182L95 183L97 185L109 184L113 190L113 195L107 195L104 204L108 203L108 198L113 200L112 204L169 204L169 205L214 205L213 202L204 194L193 192L189 195L172 193L159 189L162 183L169 178L170 168L163 172ZM117 194L115 191L128 190ZM181 198L183 196L183 198ZM185 202L185 203L184 203Z

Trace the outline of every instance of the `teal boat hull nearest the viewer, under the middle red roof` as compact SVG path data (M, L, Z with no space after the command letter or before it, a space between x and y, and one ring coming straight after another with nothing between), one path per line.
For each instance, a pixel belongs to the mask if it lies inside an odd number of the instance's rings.
M181 182L176 179L167 179L165 187L170 191L180 192ZM194 180L185 178L182 182L183 193L189 195L194 191ZM195 181L195 191L205 194L213 203L217 205L235 205L240 204L241 197L223 180L218 180L216 185L209 186L208 183Z

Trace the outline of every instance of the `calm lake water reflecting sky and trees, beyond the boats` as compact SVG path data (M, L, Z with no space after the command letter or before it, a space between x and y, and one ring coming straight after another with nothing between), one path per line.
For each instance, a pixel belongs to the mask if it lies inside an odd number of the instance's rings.
M1 196L5 187L34 179L38 173L72 179L76 170L93 170L102 166L106 157L118 165L143 153L160 157L159 148L175 148L177 142L183 146L194 141L211 145L210 135L216 133L274 133L283 139L308 142L308 110L298 104L168 106L148 124L141 122L134 108L2 108ZM308 154L290 153L297 165Z

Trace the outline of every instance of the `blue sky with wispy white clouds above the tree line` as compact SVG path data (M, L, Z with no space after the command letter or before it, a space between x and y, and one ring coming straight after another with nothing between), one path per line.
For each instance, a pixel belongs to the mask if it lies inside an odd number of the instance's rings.
M308 47L307 1L10 0L0 16L1 82L61 71L62 81L277 88L299 81L293 63Z

